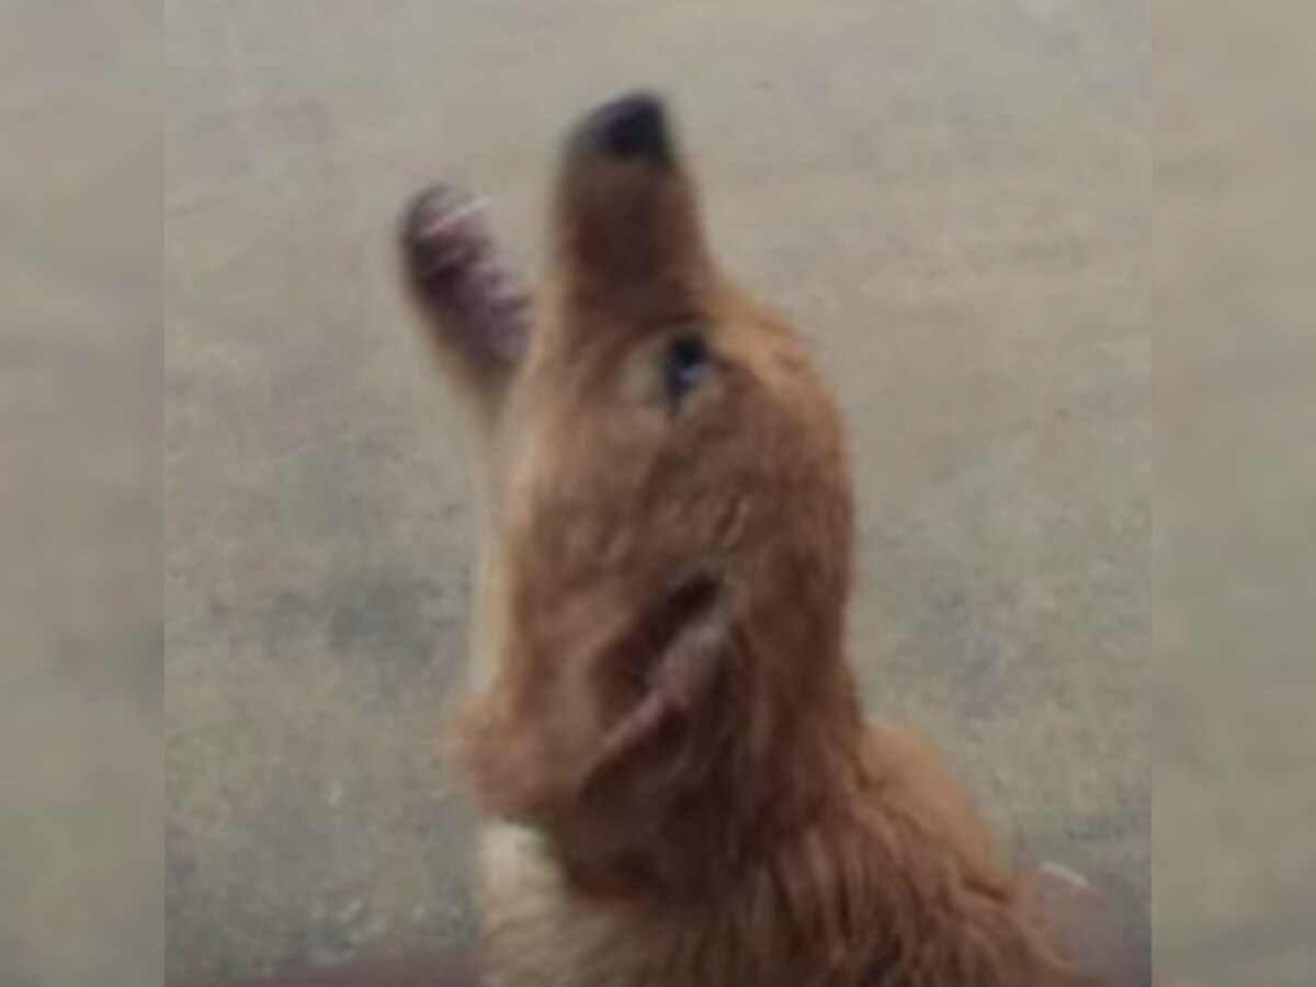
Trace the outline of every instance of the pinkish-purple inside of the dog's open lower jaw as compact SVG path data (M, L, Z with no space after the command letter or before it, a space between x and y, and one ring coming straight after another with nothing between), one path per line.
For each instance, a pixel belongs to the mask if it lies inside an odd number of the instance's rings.
M529 295L500 257L480 199L450 186L422 192L403 241L412 284L434 321L472 357L516 363L529 336Z

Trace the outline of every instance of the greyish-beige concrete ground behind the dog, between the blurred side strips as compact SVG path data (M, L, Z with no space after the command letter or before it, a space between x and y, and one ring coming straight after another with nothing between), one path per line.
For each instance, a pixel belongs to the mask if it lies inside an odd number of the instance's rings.
M455 178L533 263L562 126L636 83L849 416L874 711L1149 955L1142 3L187 0L166 30L168 980L470 934L432 736L471 503L391 225Z

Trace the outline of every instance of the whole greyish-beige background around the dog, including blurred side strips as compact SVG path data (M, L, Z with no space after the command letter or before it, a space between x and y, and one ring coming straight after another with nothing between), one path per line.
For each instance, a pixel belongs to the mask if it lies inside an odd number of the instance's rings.
M1309 983L1311 20L9 0L0 982L471 936L472 504L392 224L454 179L533 268L563 126L644 84L849 418L874 713L1145 971L1154 912L1162 970Z

